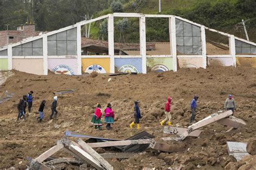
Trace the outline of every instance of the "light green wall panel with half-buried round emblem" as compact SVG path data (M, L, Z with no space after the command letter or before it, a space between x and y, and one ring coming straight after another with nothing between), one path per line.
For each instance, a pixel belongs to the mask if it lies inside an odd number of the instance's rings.
M147 67L150 67L153 72L173 70L172 58L147 58Z

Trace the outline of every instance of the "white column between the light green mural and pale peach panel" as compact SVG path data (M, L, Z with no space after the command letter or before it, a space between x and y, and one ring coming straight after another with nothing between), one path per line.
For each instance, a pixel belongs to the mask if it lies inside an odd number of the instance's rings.
M169 34L173 72L177 72L176 20L174 16L169 18Z

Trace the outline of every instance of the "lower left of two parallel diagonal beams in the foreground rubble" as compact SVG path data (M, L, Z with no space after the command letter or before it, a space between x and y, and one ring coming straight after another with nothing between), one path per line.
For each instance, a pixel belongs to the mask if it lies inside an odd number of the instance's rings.
M100 162L95 160L90 154L86 153L82 148L79 146L75 146L71 144L69 146L69 150L77 154L80 158L82 158L84 161L86 161L88 164L92 165L93 167L97 169L104 169L102 165L100 165Z

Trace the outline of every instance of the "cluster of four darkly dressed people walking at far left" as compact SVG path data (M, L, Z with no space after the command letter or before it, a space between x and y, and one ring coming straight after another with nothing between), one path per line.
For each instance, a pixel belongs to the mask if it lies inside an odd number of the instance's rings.
M23 121L26 120L26 106L28 103L28 110L29 112L31 112L31 108L32 108L32 102L33 102L33 91L30 91L27 95L23 95L23 97L19 100L19 103L17 105L17 109L18 109L18 118L17 121L19 121L19 119L21 119L23 117ZM54 115L55 118L57 117L58 111L56 110L57 108L57 96L53 97L53 101L51 103L51 115L50 115L50 119L52 119L52 116ZM45 107L45 103L46 101L43 100L39 106L38 109L38 113L39 113L39 117L37 117L37 121L39 123L42 123L43 117L44 117L44 107Z

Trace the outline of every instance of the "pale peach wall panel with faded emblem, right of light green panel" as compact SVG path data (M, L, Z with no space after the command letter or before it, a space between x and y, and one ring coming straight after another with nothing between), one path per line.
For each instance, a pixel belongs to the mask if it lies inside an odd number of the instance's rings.
M177 63L180 68L203 68L203 57L185 58L181 56L177 58Z

